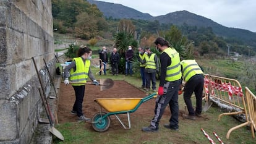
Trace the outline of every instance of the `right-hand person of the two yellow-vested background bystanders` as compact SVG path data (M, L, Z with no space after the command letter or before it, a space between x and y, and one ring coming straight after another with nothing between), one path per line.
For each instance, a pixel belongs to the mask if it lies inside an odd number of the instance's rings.
M152 90L156 91L156 73L159 72L158 57L152 53L150 48L145 51L145 78L146 78L146 91L150 90L150 81L152 82Z

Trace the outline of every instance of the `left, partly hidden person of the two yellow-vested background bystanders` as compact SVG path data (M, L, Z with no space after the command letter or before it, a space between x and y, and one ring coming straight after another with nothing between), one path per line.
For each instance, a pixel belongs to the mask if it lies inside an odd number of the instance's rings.
M145 78L145 66L146 66L145 56L146 56L146 54L144 53L144 48L142 48L142 47L139 47L138 51L139 51L138 60L140 63L140 76L142 77L142 88L144 90L146 90L146 78Z

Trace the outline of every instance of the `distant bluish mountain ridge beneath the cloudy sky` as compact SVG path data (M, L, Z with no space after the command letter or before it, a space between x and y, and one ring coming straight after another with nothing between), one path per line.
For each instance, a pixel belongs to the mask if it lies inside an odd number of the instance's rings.
M173 23L174 25L187 23L187 25L191 26L211 27L213 32L218 36L223 36L224 38L236 38L244 41L244 43L247 43L250 46L256 46L256 33L239 28L225 27L211 19L207 19L206 17L188 11L171 12L166 15L153 17L150 14L139 12L130 7L123 6L122 4L93 0L87 1L90 2L90 4L96 4L98 9L100 9L100 11L103 12L103 15L107 18L158 20L160 23Z

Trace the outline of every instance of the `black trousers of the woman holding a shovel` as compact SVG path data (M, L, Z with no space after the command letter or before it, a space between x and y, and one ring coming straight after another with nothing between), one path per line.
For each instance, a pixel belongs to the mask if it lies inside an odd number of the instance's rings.
M79 85L79 86L74 86L72 87L75 90L75 103L73 106L73 111L77 112L77 116L82 116L83 115L83 97L85 96L85 85Z

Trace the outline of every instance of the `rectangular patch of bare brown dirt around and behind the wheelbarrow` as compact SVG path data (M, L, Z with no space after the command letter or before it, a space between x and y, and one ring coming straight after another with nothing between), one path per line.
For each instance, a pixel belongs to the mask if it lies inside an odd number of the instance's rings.
M93 117L100 112L100 106L94 102L96 98L143 98L148 94L142 89L136 88L125 81L114 81L114 86L108 90L100 91L95 85L85 86L85 97L83 99L83 113L86 117ZM61 83L58 101L58 120L60 124L76 122L77 116L70 114L75 101L75 93L72 85ZM152 116L155 108L155 99L142 103L132 116ZM107 112L107 111L105 111ZM184 111L180 110L180 119ZM166 108L164 115L170 116L169 108ZM200 119L198 119L200 121ZM203 119L202 119L203 120ZM118 121L117 121L118 122Z

